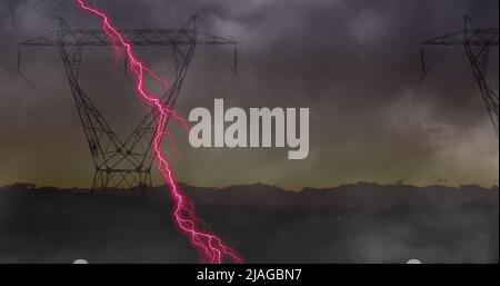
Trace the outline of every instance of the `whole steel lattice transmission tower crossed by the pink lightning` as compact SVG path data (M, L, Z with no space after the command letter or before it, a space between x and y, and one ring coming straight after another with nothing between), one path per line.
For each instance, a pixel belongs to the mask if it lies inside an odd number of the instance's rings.
M181 29L127 29L120 32L134 47L171 47L174 77L170 90L162 96L162 100L170 108L176 105L188 66L198 45L237 45L234 41L198 31L196 17L191 18ZM51 46L59 49L94 164L92 189L139 188L141 191L151 189L151 166L154 161L150 151L156 119L153 110L151 109L144 116L128 137L121 139L79 83L83 48L113 46L106 32L73 30L60 18L59 29L56 32L20 43L19 66L21 47L27 46Z

